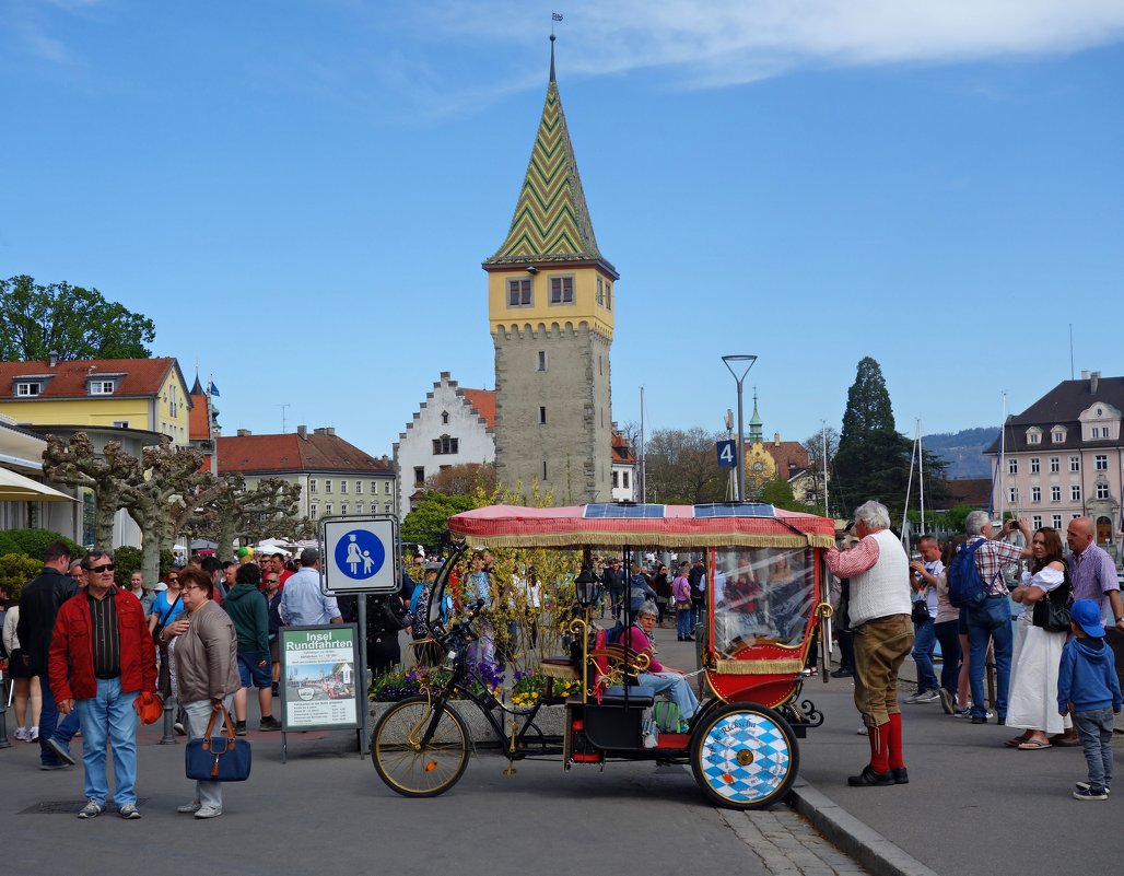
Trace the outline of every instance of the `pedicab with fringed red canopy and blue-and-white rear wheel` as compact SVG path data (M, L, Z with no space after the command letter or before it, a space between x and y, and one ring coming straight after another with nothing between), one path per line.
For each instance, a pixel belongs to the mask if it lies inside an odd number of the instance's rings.
M447 680L397 703L372 732L371 758L392 789L433 796L456 784L472 740L450 701L463 697L475 702L500 740L509 773L524 758L561 759L564 769L654 760L690 764L710 801L732 809L768 806L788 793L799 767L797 739L823 723L800 692L816 630L830 625L823 553L834 545L832 520L761 503L495 505L451 517L448 530L459 547L438 572L428 609L430 633L447 653ZM554 701L564 707L560 735L540 726L550 696L519 708L470 684L468 653L487 615L460 586L459 605L450 612L445 590L451 578L460 579L464 553L481 548L582 557L575 563L581 574L573 569L573 616L554 618L570 634L570 653L540 663L544 676L581 681L579 694ZM700 705L674 728L680 732L660 732L654 747L644 739L655 701L653 688L642 684L650 658L609 643L598 629L591 611L597 583L589 574L593 551L619 557L625 568L647 553L704 559L707 597L696 631L700 669L694 674ZM821 641L830 641L830 631ZM824 659L824 680L827 668Z

